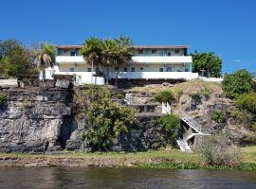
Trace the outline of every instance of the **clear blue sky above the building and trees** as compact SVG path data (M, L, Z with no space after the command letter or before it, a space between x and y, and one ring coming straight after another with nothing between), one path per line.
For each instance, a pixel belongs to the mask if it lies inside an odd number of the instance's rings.
M256 72L255 0L1 0L0 6L0 40L81 44L122 34L135 44L212 51L223 72Z

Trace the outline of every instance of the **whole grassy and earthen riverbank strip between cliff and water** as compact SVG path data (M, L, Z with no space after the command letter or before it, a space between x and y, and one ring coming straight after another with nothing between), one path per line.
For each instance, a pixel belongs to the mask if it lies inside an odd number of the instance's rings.
M236 169L256 171L256 146L240 148L241 163L233 166L209 166L201 155L177 149L160 149L146 152L69 152L49 154L0 153L0 166L16 167L141 167L170 169Z

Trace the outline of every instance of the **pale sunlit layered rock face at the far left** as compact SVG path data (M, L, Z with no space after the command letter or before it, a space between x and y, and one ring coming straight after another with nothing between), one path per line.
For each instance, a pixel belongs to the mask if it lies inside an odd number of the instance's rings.
M8 101L0 109L1 152L62 149L63 128L73 117L72 91L38 88L3 93Z

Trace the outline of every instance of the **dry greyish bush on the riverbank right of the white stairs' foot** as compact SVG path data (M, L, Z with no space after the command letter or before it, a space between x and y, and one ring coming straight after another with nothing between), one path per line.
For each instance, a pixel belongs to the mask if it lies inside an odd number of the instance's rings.
M209 136L200 146L203 162L208 165L235 165L240 163L241 154L236 146L229 144L226 134Z

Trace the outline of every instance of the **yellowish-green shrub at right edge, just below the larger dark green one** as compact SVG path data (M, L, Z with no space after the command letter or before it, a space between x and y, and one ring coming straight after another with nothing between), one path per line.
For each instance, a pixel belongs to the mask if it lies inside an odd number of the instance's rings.
M235 100L235 104L242 110L256 114L256 93L241 94Z

